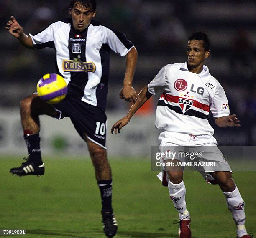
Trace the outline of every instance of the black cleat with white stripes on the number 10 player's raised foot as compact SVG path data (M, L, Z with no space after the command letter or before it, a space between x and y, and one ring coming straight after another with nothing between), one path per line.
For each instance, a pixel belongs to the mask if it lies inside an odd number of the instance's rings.
M37 175L38 177L44 175L44 163L42 165L36 165L29 158L24 158L23 160L26 160L26 162L23 162L20 167L11 168L10 173L20 177L25 175Z

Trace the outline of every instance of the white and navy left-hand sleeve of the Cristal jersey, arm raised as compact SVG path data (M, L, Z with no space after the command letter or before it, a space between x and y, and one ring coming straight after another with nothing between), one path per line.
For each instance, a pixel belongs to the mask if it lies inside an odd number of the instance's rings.
M55 48L54 46L54 31L58 28L58 22L52 23L45 30L41 31L37 35L31 35L33 41L33 47L36 49L42 49L45 47Z

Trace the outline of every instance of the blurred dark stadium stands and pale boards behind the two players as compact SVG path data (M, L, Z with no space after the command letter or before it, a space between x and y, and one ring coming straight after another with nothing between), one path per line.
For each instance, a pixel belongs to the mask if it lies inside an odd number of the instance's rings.
M97 0L97 19L125 33L138 49L139 58L134 87L137 91L148 84L162 66L186 60L187 37L194 31L203 31L210 36L212 55L206 61L210 72L223 85L228 96L230 112L241 119L241 128L216 128L215 137L219 145L255 145L256 143L256 3L251 0L202 1L202 0ZM52 49L28 50L21 46L5 30L10 15L15 15L26 33L36 34L49 23L69 17L69 1L61 0L1 0L0 50L3 52L0 68L0 148L10 152L16 144L23 148L19 124L18 106L23 97L36 91L36 82L45 73L54 73ZM128 104L118 97L125 71L125 58L114 53L111 56L111 71L108 94L108 130L112 123L127 111ZM158 100L155 97L154 101ZM145 142L157 145L158 131L154 130L153 100L138 113L129 129L124 129L118 139L108 135L109 153L116 154L117 145L132 141L134 154L148 154ZM12 115L12 116L10 116ZM145 117L146 116L146 117ZM148 123L145 125L145 119ZM42 128L45 146L57 149L80 151L83 143L66 120L64 128L70 127L69 139L64 132L53 131L61 127L49 118L52 128ZM50 121L50 123L49 123ZM142 128L143 127L143 128ZM14 133L13 129L16 133ZM17 130L20 133L17 133ZM49 132L52 132L49 135ZM74 132L74 133L73 133ZM74 136L73 136L74 135ZM143 143L141 143L143 142ZM119 144L116 144L119 143ZM70 147L69 145L73 145ZM115 147L112 145L115 144ZM74 145L76 149L74 148ZM7 150L7 147L9 148ZM143 149L142 149L143 148ZM2 150L2 149L1 149ZM24 150L25 151L25 150ZM127 148L127 151L131 151ZM126 150L119 151L125 154Z

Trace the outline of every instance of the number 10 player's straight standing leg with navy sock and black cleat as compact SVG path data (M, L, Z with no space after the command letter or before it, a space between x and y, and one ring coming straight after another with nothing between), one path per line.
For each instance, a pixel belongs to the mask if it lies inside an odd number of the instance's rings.
M90 152L92 164L95 168L95 176L100 189L103 230L107 237L113 237L117 232L118 224L112 208L112 174L107 160L107 151L88 138L87 146Z

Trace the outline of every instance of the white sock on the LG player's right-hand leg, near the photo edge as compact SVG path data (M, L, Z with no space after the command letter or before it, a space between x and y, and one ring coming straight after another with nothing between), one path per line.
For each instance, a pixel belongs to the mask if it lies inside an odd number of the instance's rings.
M244 212L244 201L240 195L238 188L236 187L233 192L223 192L226 196L226 202L228 210L233 215L233 219L236 223L236 233L238 237L242 237L247 234L245 228L245 212Z

